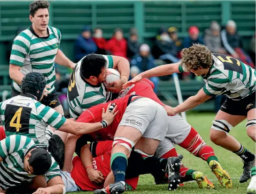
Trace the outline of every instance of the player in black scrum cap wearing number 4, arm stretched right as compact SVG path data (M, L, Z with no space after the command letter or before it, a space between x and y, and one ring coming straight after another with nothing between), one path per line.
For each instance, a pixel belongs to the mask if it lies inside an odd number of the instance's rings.
M62 117L53 108L41 104L46 91L45 77L37 72L26 74L22 80L22 93L0 103L0 120L6 136L20 134L31 139L38 147L48 149L58 164L64 162L64 144L58 136L47 136L51 126L59 131L79 135L91 129L102 129L113 121L115 114L102 111L102 120L97 123L78 123ZM47 131L47 132L46 132ZM60 133L60 132L59 132ZM49 139L50 138L50 139Z

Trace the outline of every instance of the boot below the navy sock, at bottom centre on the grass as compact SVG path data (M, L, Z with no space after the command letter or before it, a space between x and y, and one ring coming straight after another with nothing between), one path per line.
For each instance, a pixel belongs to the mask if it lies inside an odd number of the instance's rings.
M108 185L105 188L97 189L94 194L122 194L125 191L125 182L119 181Z

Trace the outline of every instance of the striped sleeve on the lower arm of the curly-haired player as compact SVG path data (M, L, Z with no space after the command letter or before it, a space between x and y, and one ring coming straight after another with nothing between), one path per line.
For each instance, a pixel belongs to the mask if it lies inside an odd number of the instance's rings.
M228 78L220 74L220 78L208 79L203 86L203 91L209 96L217 96L229 84L228 81Z

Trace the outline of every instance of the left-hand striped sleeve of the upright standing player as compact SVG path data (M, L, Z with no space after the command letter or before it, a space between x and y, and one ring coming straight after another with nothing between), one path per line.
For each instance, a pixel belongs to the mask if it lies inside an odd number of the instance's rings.
M26 55L29 53L31 37L22 32L13 41L10 64L23 66Z

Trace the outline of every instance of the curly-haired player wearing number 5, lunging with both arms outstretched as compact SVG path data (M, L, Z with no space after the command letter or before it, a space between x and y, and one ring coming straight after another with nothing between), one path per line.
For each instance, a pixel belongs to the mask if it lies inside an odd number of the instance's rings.
M227 100L212 122L210 139L213 143L237 154L243 160L244 171L240 177L240 183L246 182L250 178L250 169L254 166L255 155L228 133L247 118L247 134L255 142L255 69L233 57L211 53L204 45L194 44L182 50L181 62L162 65L142 72L124 84L124 87L131 86L142 78L179 72L192 72L196 76L202 76L206 84L196 95L189 97L177 107L165 106L168 115L185 112L213 96L226 95Z

